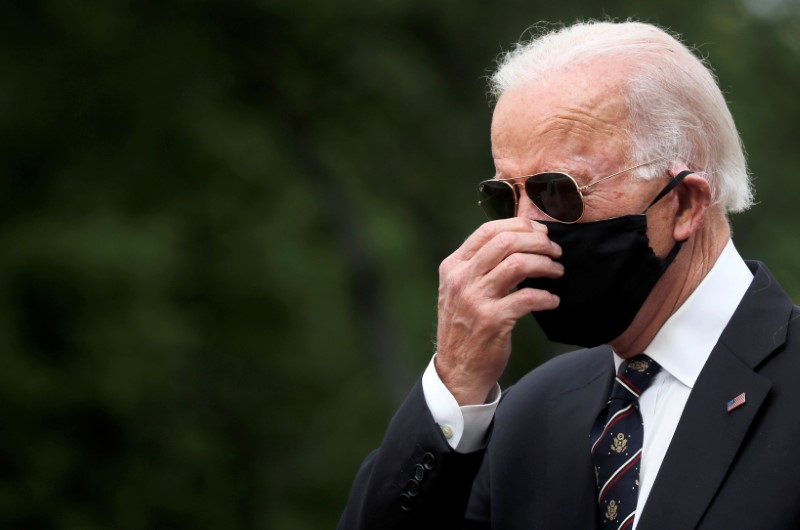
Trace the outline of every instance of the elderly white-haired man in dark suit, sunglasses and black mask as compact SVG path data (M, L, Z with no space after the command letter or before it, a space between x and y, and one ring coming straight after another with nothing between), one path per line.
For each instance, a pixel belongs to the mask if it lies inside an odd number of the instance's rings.
M340 528L800 528L800 312L731 242L752 195L712 73L603 22L492 83L492 220L441 265L437 353ZM501 399L529 312L585 349Z

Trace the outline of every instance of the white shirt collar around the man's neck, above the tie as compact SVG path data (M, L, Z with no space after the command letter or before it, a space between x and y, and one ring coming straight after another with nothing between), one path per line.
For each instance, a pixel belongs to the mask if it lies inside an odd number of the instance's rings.
M678 381L693 388L752 280L753 274L733 241L728 240L706 277L667 319L645 353ZM617 369L622 361L615 353Z

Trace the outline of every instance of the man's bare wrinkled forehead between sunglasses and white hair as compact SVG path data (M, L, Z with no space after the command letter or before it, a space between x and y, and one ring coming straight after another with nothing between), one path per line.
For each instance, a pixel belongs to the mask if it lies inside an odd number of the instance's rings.
M630 150L624 70L588 64L506 90L492 118L496 174L593 173L624 164Z

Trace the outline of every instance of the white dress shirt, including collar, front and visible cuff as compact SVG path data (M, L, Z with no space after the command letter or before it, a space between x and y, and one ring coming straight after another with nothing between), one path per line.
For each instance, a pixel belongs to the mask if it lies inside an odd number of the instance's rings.
M637 513L642 513L653 488L695 381L752 280L733 241L728 241L711 271L645 348L662 370L639 398L644 443ZM422 376L428 408L451 447L474 451L481 446L500 401L499 387L489 403L459 407L436 373L434 360L435 355ZM614 354L617 368L622 361Z

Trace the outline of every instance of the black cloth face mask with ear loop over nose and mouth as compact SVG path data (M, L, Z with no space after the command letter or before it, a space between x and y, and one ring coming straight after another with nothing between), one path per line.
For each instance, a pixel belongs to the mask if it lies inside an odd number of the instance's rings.
M678 174L650 206L690 173ZM665 258L656 256L647 237L646 212L588 223L543 222L563 250L558 261L564 275L528 278L519 286L544 289L561 299L557 308L533 313L548 339L589 348L608 344L630 326L683 244L677 242Z

